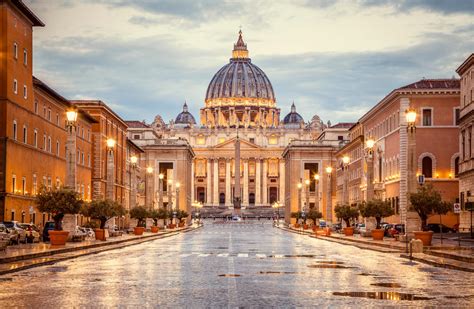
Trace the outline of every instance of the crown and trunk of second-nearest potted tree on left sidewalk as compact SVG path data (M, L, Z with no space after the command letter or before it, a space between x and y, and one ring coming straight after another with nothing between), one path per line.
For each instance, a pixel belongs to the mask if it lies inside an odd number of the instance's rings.
M94 200L89 205L84 204L81 213L92 219L100 221L100 229L104 229L107 220L113 217L123 216L126 211L121 204L109 199Z

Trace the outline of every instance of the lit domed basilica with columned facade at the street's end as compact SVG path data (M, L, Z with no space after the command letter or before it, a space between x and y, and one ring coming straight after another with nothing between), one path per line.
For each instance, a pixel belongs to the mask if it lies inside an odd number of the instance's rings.
M330 125L324 124L317 115L305 122L294 103L283 119L280 112L270 79L252 63L242 32L239 32L229 63L211 78L199 121L184 103L182 112L169 123L160 115L151 124L128 122L129 138L139 146L178 142L189 145L193 158L191 190L185 197L188 203L200 201L204 206L230 207L236 181L240 181L243 208L271 206L285 200L282 157L285 148L292 141L316 140ZM237 136L240 140L240 175L236 177L234 144ZM177 162L156 160L147 161L145 165L159 169L165 178L172 179L165 181L165 185L182 183L176 173ZM167 168L163 170L160 164ZM159 183L158 179L154 181ZM166 201L170 196L163 187L157 190L154 196L159 200ZM174 192L173 188L170 190ZM161 198L160 194L163 195Z

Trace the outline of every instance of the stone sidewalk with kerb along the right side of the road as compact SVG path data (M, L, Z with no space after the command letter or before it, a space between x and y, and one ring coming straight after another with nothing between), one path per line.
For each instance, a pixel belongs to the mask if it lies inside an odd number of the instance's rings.
M284 226L279 226L279 228L292 233L305 234L313 238L355 246L360 249L384 253L400 253L401 257L412 258L413 260L437 267L474 272L474 247L471 243L467 243L466 246L464 246L466 243L463 243L463 246L459 246L457 240L452 239L452 237L451 239L444 238L443 244L441 244L439 235L436 235L436 237L433 237L432 246L424 247L423 253L412 254L410 257L406 253L406 243L397 241L394 238L373 240L370 237L361 237L358 234L345 236L339 233L333 233L331 236L316 236L312 230L301 230Z

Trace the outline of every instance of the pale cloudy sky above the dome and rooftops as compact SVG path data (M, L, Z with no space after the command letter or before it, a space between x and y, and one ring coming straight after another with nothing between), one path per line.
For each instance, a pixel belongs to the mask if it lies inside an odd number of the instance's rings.
M474 0L24 0L34 72L124 119L198 117L242 27L285 115L356 121L392 89L451 78L474 52Z

